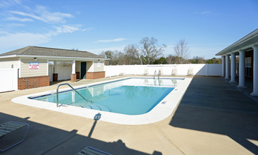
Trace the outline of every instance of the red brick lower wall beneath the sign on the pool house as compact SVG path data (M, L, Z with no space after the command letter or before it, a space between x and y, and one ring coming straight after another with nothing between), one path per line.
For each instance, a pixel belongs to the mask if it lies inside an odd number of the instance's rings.
M22 77L18 79L18 89L30 89L49 86L49 76Z

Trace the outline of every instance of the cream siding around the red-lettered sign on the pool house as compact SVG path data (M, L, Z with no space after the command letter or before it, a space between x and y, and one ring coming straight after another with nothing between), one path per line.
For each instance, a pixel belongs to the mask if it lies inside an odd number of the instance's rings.
M39 69L30 69L30 62L39 62ZM47 67L48 63L46 59L34 61L34 58L21 58L20 77L46 76Z

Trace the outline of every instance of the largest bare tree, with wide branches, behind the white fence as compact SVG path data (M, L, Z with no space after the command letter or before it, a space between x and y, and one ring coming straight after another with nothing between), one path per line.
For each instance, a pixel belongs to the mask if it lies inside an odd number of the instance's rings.
M141 64L153 64L155 59L162 55L167 46L163 44L159 46L157 44L157 39L151 37L143 37L138 45L141 55L138 54L138 58L141 60Z

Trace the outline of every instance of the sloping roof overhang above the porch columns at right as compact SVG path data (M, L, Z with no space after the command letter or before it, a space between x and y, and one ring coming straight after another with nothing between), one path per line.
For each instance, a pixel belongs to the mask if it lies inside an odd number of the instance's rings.
M234 42L230 46L226 47L226 49L219 51L216 56L226 56L239 50L248 51L252 49L252 46L254 45L258 45L258 29L239 39L237 42Z

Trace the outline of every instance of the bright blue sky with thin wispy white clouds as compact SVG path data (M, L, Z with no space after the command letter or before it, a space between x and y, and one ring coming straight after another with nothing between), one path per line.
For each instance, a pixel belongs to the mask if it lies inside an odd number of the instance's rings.
M186 39L190 58L215 54L258 28L257 0L1 0L0 54L25 46L122 51L142 37Z

